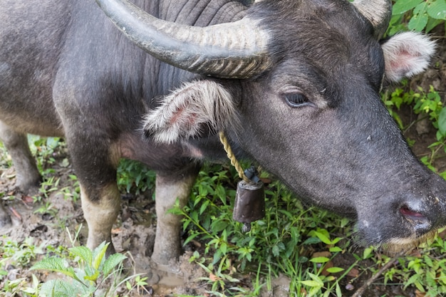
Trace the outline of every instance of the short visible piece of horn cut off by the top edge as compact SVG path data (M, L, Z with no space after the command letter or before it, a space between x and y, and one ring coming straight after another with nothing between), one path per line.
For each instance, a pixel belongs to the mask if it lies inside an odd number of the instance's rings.
M383 37L389 25L390 16L392 16L392 1L355 0L352 4L372 23L375 28L375 37L377 39Z

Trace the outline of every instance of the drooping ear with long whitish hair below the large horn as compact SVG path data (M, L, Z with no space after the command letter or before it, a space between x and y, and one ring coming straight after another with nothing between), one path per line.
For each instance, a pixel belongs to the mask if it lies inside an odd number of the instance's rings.
M212 80L185 83L161 99L145 116L144 132L157 142L171 143L200 135L204 127L214 131L237 125L232 95Z

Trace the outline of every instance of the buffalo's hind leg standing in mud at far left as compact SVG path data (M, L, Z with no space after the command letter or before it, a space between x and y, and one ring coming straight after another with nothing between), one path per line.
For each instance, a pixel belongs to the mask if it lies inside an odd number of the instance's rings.
M41 176L38 173L36 162L28 146L26 134L11 129L0 121L0 139L11 155L16 169L16 187L22 192L29 192L38 187ZM0 228L9 226L11 218L4 206L0 204Z

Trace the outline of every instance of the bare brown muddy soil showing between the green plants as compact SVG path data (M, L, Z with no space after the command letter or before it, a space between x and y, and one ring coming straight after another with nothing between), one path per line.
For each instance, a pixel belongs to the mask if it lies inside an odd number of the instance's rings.
M445 33L440 29L433 33L438 39L438 51L434 60L431 63L426 73L419 75L410 81L411 88L415 89L418 85L422 86L424 90L429 90L429 85L433 85L442 96L443 103L446 103L446 41ZM400 113L403 121L408 124L418 119L418 115L412 113L410 108L403 108ZM435 131L430 123L419 121L416 125L412 125L410 129L405 131L405 136L410 140L415 141L413 150L416 155L422 157L429 155L430 150L427 145L435 141ZM69 162L66 162L69 156L66 150L58 150L53 155L55 162L51 165L54 170L51 176L60 178L59 189L68 187L68 192L73 191L73 180L69 177L73 174L73 170ZM83 220L83 214L80 202L73 202L73 199L64 199L63 194L59 191L50 192L48 198L44 198L41 204L33 204L31 197L27 194L17 192L14 189L14 169L8 168L6 162L3 161L1 166L0 192L4 192L4 197L14 197L4 202L6 207L11 212L14 226L9 231L3 231L3 234L11 236L17 241L23 241L26 237L33 237L36 246L71 246L68 232L74 234L76 229L83 226L79 234L81 243L85 243L87 234L86 224ZM49 165L48 165L49 166ZM446 158L440 157L435 161L437 170L446 170ZM147 272L149 277L149 285L146 286L145 292L139 295L136 291L132 296L172 296L172 294L185 295L203 295L209 287L204 283L195 281L196 278L207 276L202 269L196 264L190 264L190 258L193 246L187 246L184 256L180 261L173 263L168 267L159 267L150 262L150 254L155 236L155 204L152 199L145 197L152 197L151 192L144 194L123 194L123 209L120 213L118 222L113 229L113 242L115 248L119 252L130 251L133 255L133 265L138 272ZM52 205L50 209L36 212L38 209L43 209L43 205L49 203ZM68 231L66 231L68 230ZM196 243L199 245L199 243ZM188 251L189 250L189 251ZM352 255L343 254L336 257L336 266L348 267L355 259ZM20 269L16 266L9 266L9 274L7 278L15 279L24 276L31 276L31 272L27 269ZM48 278L57 277L53 274L48 274L40 271L32 271L41 281L46 281ZM371 275L363 274L361 280L355 282L355 287L361 286L363 281L370 278ZM247 281L244 283L251 283L251 276L242 276ZM0 278L1 279L1 278ZM345 296L351 296L356 288L347 290L348 278L343 281L343 291ZM4 282L0 281L0 286ZM274 281L274 292L264 291L262 296L288 296L286 288L289 280L286 278L279 278ZM383 286L380 284L373 284L370 286L363 296L410 296L416 295L415 290L408 288L406 291L402 290L401 286Z

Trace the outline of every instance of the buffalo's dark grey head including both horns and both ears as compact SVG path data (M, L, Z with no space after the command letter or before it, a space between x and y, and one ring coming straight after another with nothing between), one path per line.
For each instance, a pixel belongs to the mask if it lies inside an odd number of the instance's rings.
M198 74L147 114L150 140L207 157L224 130L301 199L357 219L363 244L401 249L445 224L446 182L380 101L383 80L420 73L435 47L418 33L380 41L390 1L256 1L203 28L97 1L138 46Z

